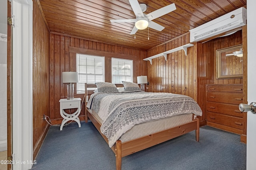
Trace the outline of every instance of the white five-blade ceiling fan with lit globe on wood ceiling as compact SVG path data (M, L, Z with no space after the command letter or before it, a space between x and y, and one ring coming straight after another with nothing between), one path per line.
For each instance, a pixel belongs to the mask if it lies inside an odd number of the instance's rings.
M110 20L110 21L111 22L135 22L135 25L130 35L135 34L138 31L138 29L146 29L147 27L156 29L158 31L162 31L164 27L152 20L176 10L175 4L170 4L158 10L150 12L149 14L143 14L143 12L145 12L147 9L146 4L139 4L138 0L129 0L129 2L130 2L130 5L132 6L132 10L134 11L136 19Z

